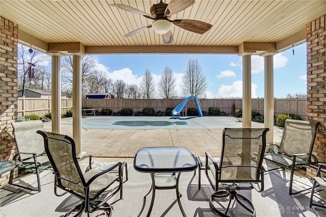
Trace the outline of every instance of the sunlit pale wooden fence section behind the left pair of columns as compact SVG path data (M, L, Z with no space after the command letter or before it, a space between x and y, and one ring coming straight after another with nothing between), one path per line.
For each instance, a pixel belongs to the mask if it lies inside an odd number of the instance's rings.
M36 114L44 116L46 113L51 112L52 102L51 99L42 98L18 98L18 116L29 114ZM72 108L72 99L61 100L61 115L66 114L68 109Z

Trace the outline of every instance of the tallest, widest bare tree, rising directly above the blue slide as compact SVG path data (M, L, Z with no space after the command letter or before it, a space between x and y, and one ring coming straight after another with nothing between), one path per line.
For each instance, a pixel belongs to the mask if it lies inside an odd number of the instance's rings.
M197 59L189 59L185 75L182 78L182 95L202 97L207 89L206 77Z

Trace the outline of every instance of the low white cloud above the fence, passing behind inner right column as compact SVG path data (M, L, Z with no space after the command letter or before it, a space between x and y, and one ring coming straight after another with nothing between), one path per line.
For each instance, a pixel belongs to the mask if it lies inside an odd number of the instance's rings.
M251 84L251 97L257 98L256 94L257 85ZM242 98L242 81L235 81L231 85L221 85L218 93L215 94L215 98Z

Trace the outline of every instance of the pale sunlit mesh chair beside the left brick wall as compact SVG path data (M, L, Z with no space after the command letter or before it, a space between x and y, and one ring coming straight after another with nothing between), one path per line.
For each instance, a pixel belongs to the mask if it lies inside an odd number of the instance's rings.
M42 120L31 120L28 122L11 123L14 129L14 136L18 153L14 155L15 162L20 161L21 166L34 165L37 187L27 187L17 183L13 183L14 171L10 172L9 184L22 187L29 190L41 191L41 181L39 175L39 167L49 164L49 159L44 151L44 143L42 136L38 135L36 131L43 131Z

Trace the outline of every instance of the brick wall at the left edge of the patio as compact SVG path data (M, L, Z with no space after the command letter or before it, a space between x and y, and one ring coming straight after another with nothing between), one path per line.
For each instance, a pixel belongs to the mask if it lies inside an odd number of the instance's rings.
M6 160L17 152L11 123L17 119L18 25L1 17L0 33L0 160ZM0 185L9 174L1 176Z

